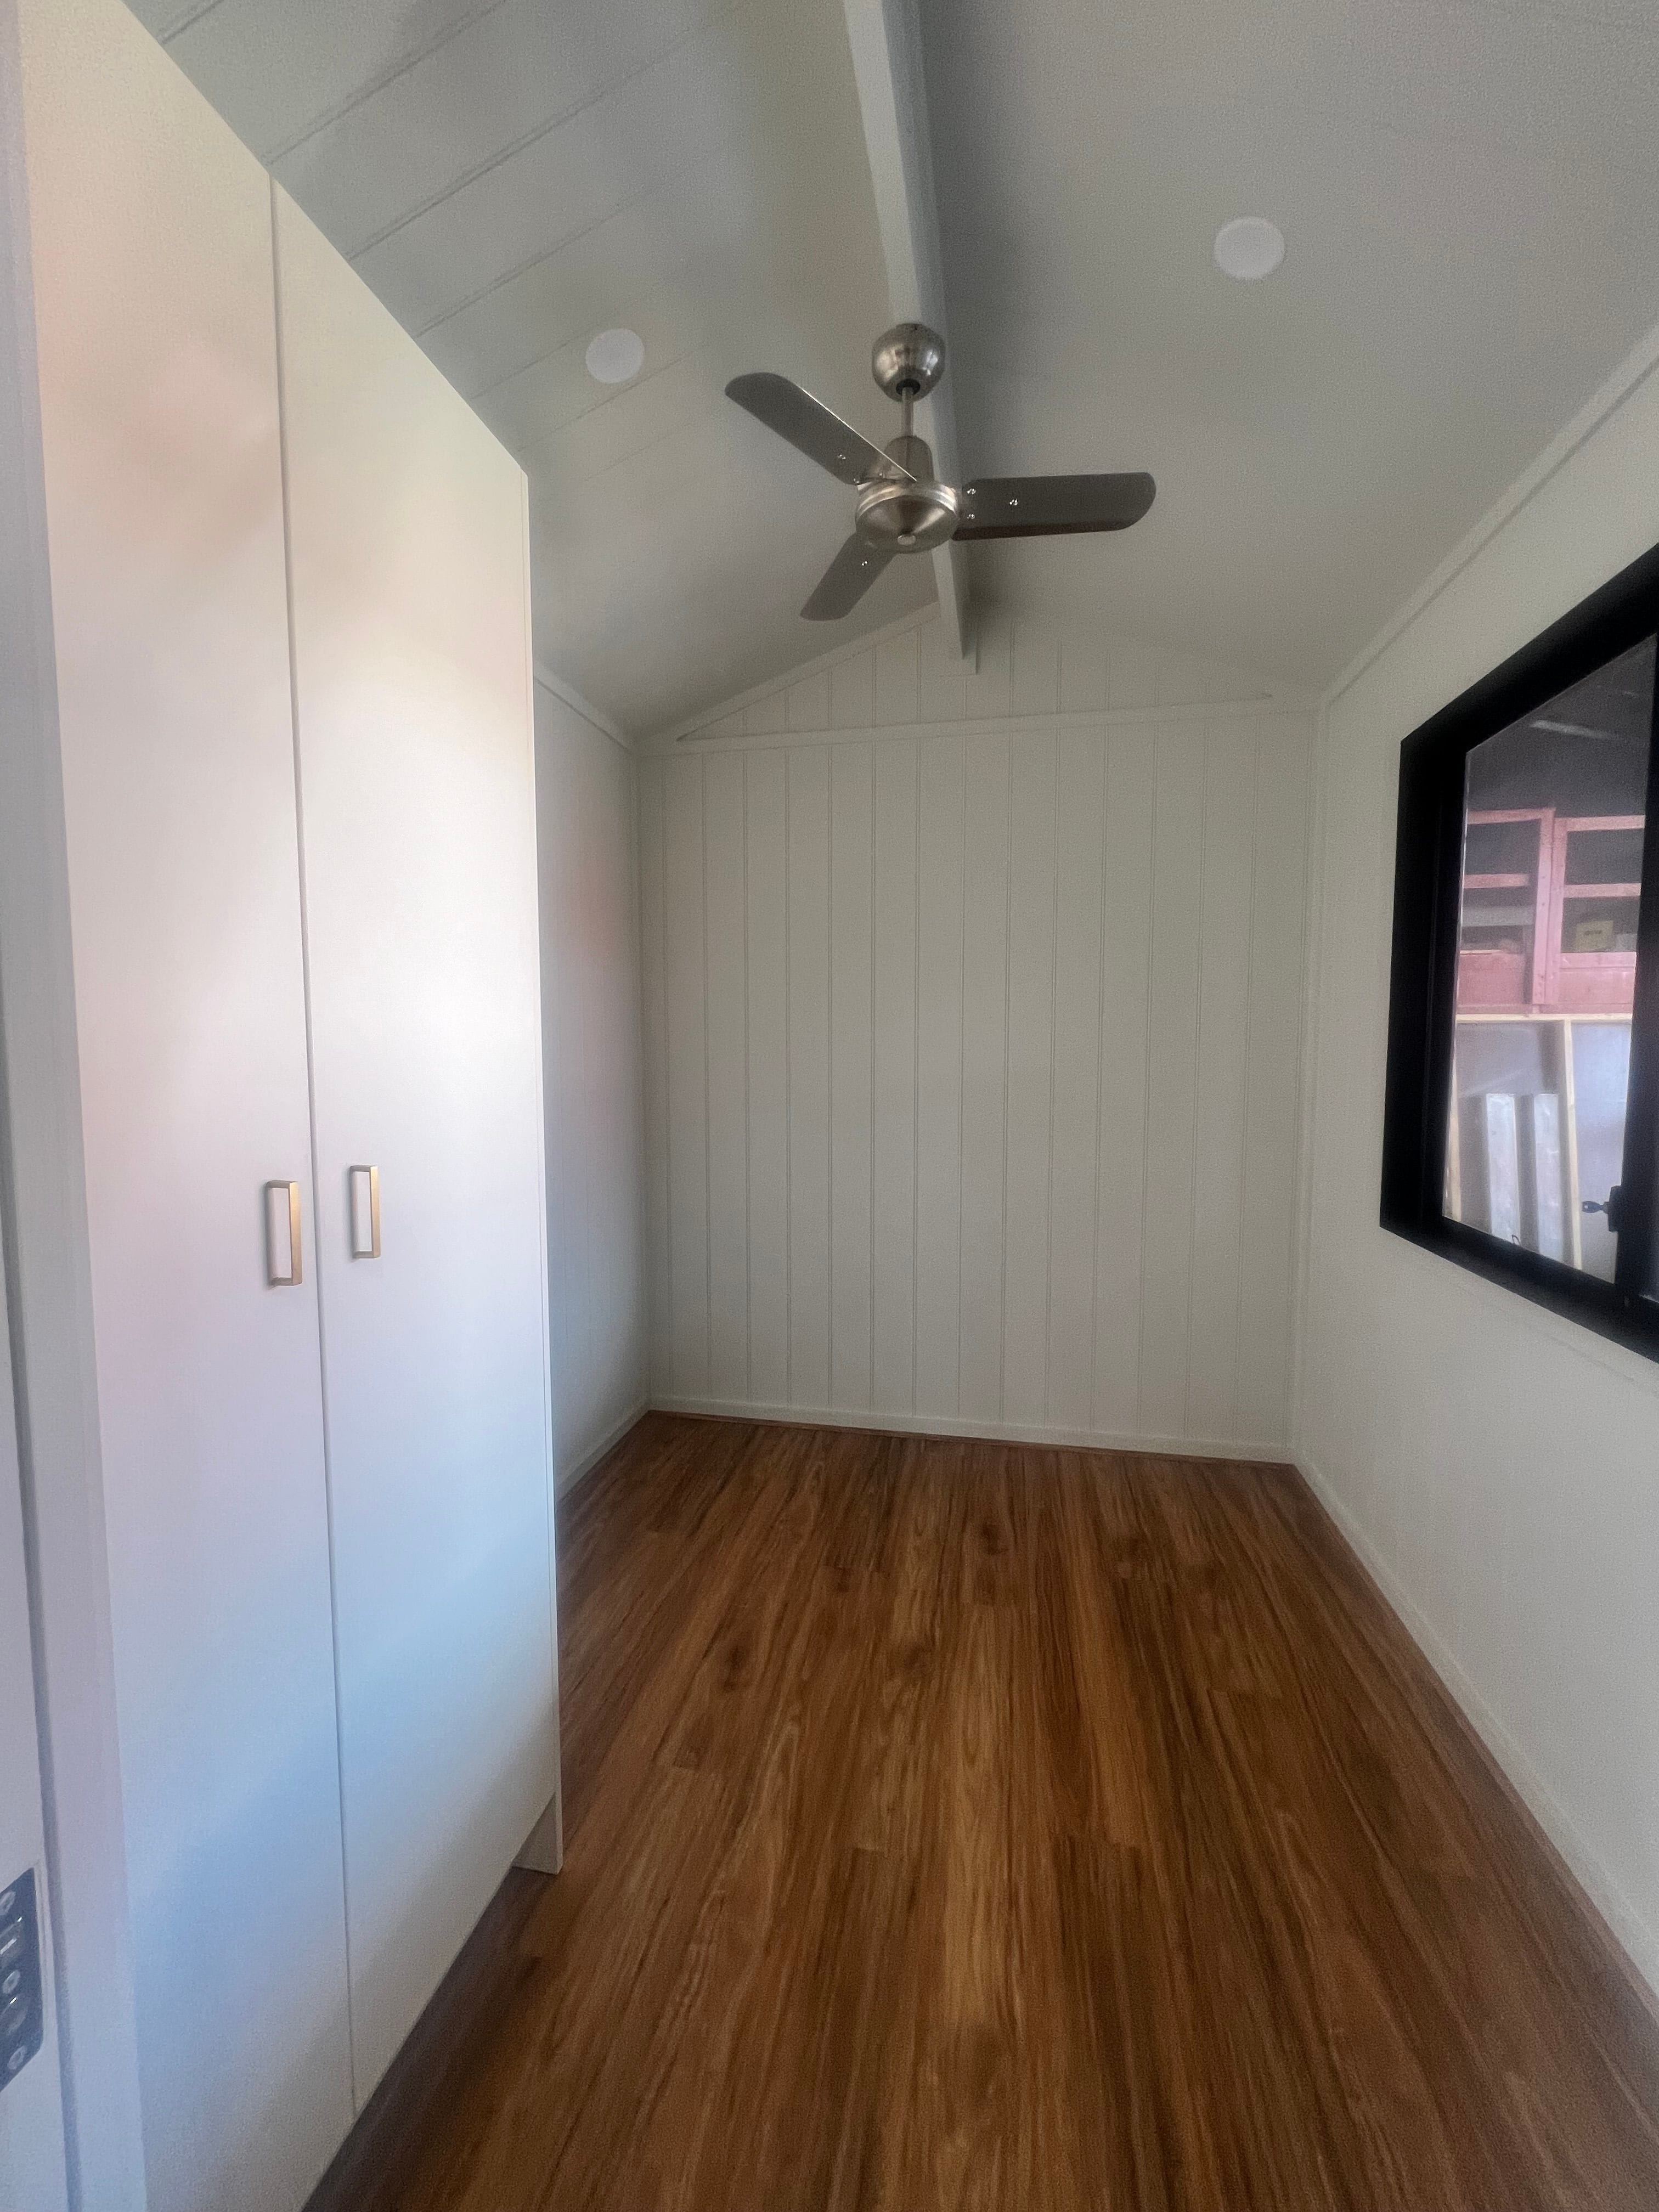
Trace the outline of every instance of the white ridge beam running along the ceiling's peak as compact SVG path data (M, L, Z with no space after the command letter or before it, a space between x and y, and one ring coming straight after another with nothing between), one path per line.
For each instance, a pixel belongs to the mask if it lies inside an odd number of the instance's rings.
M951 327L945 316L945 257L933 199L933 146L927 133L916 0L843 0L843 4L894 321L929 323L945 338L949 361ZM918 405L916 418L916 427L933 447L940 478L960 484L962 453L956 442L949 372ZM969 644L967 549L953 540L933 551L933 586L945 635L960 657Z

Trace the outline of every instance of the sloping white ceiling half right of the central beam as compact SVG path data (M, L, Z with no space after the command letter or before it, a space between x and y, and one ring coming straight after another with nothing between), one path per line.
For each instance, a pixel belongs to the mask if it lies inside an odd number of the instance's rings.
M920 4L964 469L1159 484L975 593L1329 679L1659 319L1655 0Z

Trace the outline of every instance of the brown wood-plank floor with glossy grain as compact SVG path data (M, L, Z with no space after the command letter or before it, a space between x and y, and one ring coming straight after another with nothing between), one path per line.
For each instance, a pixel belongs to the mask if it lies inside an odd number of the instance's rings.
M1655 2212L1659 2035L1285 1469L646 1418L568 1858L319 2212Z

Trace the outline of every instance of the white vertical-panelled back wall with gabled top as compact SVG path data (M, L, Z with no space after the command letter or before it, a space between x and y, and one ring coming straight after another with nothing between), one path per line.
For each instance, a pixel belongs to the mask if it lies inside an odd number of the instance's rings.
M653 1396L1281 1449L1310 754L995 619L653 748Z

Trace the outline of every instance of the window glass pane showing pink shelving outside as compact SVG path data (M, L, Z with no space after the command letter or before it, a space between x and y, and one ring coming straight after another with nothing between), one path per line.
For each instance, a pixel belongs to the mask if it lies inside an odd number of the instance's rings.
M1444 1210L1604 1281L1617 1261L1652 684L1648 637L1475 745L1464 781Z

